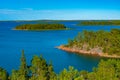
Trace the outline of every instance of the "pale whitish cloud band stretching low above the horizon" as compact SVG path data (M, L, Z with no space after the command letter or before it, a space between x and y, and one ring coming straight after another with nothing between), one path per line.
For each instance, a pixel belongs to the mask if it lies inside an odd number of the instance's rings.
M0 9L0 20L32 19L120 19L120 11L115 10L21 10Z

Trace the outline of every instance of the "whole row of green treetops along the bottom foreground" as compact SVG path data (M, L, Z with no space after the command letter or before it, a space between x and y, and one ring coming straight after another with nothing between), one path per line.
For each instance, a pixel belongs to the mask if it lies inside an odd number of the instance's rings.
M120 80L120 59L101 60L91 72L69 66L59 74L42 56L34 55L28 65L22 51L20 61L18 70L13 69L11 74L0 67L0 80Z

